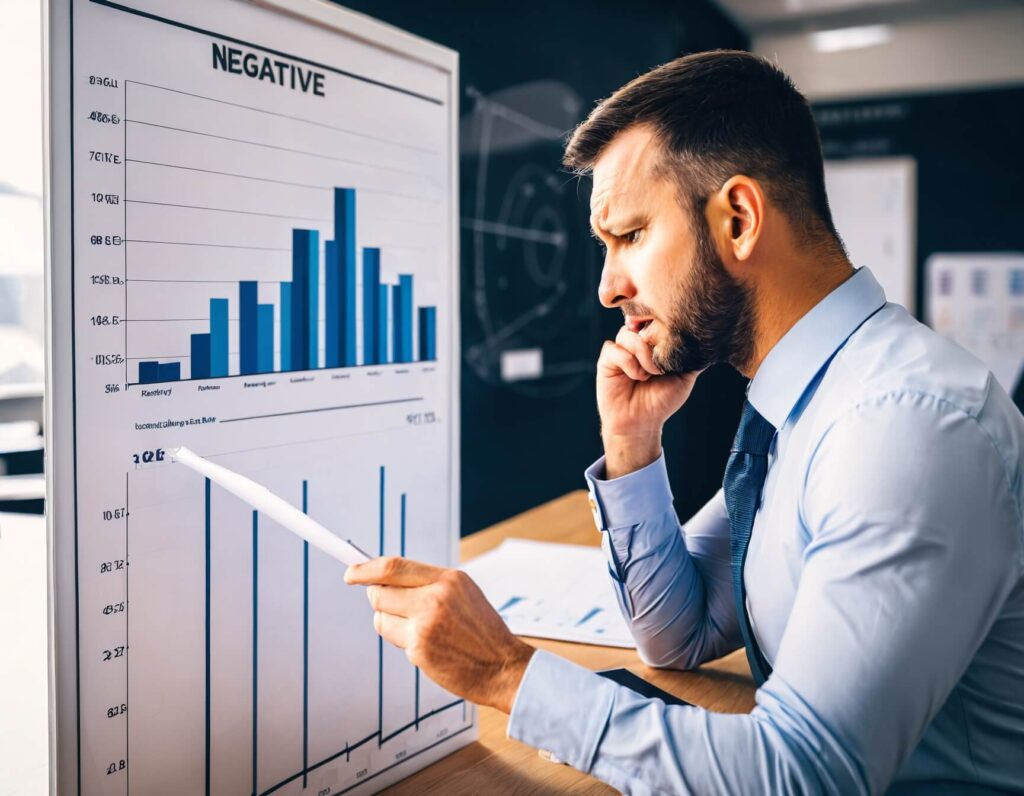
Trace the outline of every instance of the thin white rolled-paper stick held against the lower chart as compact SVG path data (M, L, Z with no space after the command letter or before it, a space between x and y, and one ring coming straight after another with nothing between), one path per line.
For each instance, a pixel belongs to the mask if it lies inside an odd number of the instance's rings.
M175 448L171 451L171 456L174 461L205 475L218 487L230 492L234 497L241 498L257 511L287 528L296 536L305 539L317 550L323 550L332 558L337 558L348 565L370 560L370 556L351 542L339 539L308 514L299 511L262 484L257 484L233 470L214 464L187 448Z

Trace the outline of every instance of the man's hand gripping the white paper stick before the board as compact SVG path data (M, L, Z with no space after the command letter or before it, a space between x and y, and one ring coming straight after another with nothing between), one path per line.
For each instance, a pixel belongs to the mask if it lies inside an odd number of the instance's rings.
M377 632L430 679L477 705L512 711L534 647L509 632L468 575L385 557L349 567L345 582L369 586Z

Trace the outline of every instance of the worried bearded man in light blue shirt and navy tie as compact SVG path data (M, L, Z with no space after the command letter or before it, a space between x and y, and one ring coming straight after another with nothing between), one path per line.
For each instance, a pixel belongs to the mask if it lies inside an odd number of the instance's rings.
M750 715L667 707L512 637L453 571L348 571L378 631L509 734L626 793L1024 793L1024 418L888 304L833 225L806 100L741 52L603 101L592 172L605 455L587 471L639 653L745 646ZM660 434L697 374L751 378L723 490L680 529Z

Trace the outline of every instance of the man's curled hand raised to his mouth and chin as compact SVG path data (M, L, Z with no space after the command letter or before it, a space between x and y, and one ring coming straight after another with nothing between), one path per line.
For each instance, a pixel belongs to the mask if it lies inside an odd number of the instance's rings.
M597 409L601 415L605 476L646 467L662 450L665 421L686 403L696 373L665 374L639 334L623 327L597 361Z

